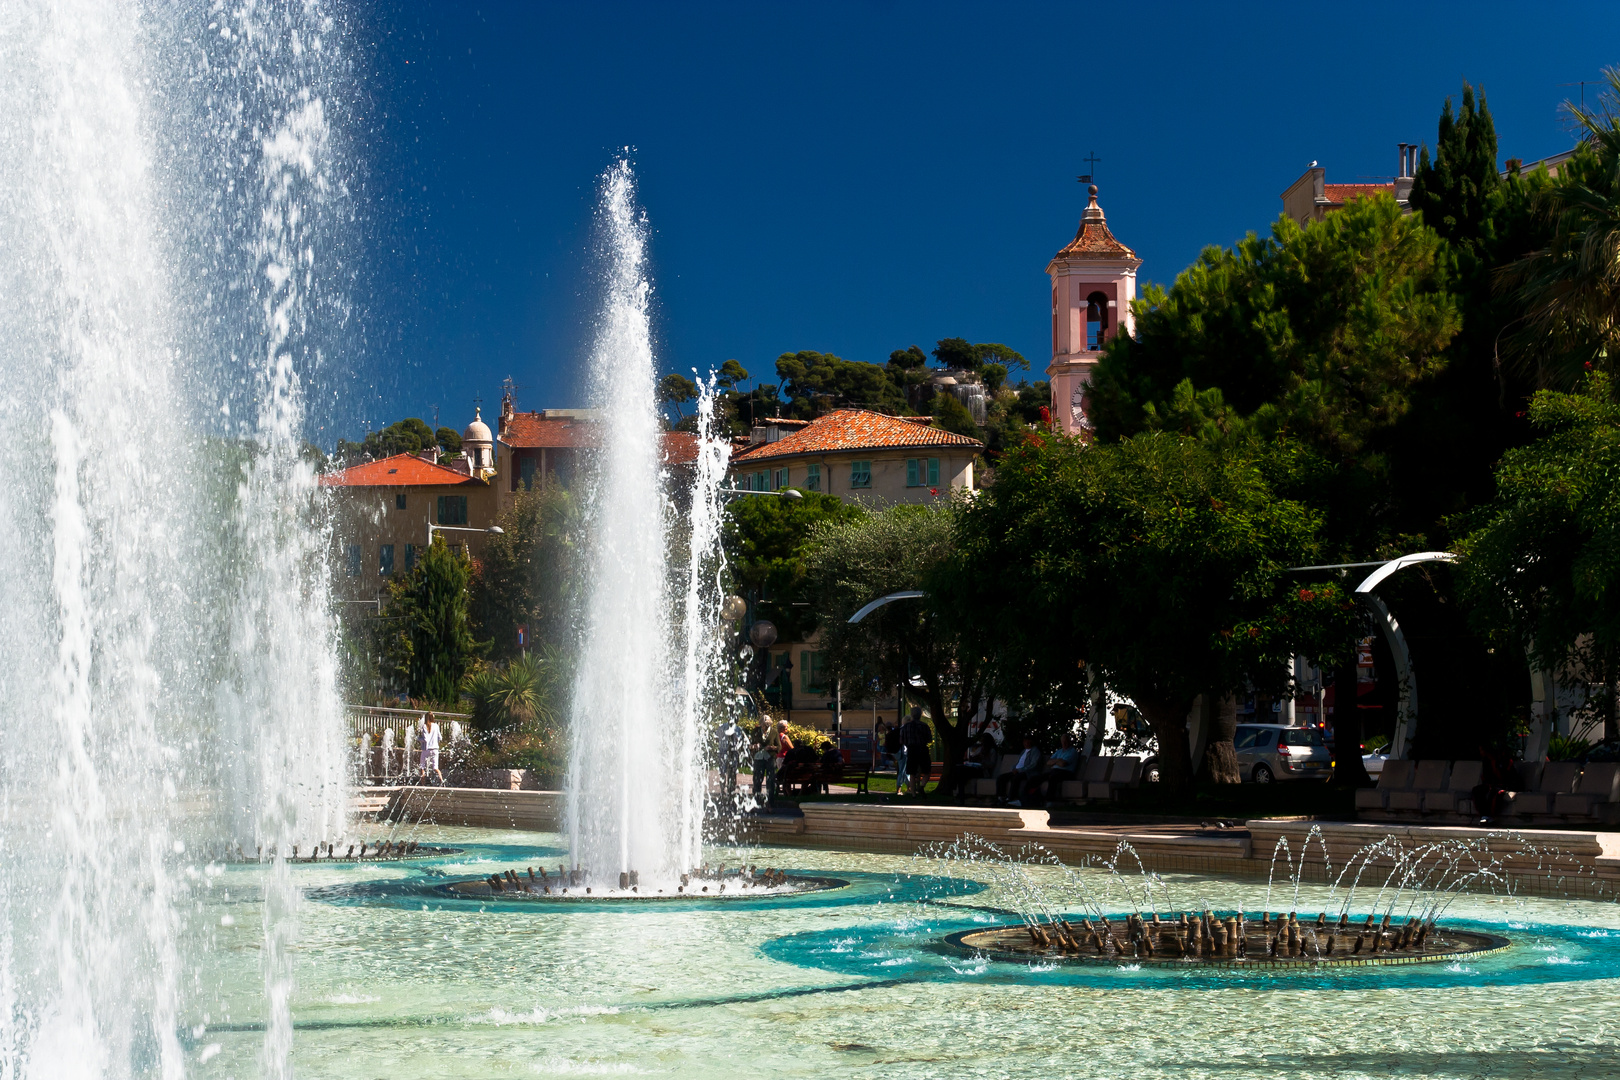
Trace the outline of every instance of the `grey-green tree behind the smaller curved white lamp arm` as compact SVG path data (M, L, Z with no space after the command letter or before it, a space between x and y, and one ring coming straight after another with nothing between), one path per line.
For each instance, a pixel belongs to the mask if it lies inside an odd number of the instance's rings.
M967 721L990 693L985 665L959 648L961 635L936 615L928 597L886 604L855 625L847 620L880 596L932 591L956 551L956 513L954 502L936 502L823 523L805 559L813 604L825 620L828 674L846 687L863 687L873 677L897 685L910 672L922 678L928 717L944 746L941 789L953 784L967 746Z

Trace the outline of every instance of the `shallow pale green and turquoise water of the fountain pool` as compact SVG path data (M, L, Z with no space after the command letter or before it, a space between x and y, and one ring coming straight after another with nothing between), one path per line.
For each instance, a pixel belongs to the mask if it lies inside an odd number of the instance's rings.
M296 866L306 889L293 1062L301 1077L1601 1077L1620 1074L1620 908L1466 897L1448 921L1515 939L1461 963L1332 973L995 963L946 933L1004 921L972 887L888 855L760 848L849 881L779 900L478 904L446 881L562 858L549 834L436 829L462 855ZM734 852L716 861L739 861ZM258 1075L256 868L217 876L217 934L190 1017L194 1075ZM1265 882L1171 876L1259 910ZM1129 908L1128 884L1098 874ZM230 899L225 899L225 894ZM933 904L922 904L933 897ZM1301 910L1319 889L1304 887Z

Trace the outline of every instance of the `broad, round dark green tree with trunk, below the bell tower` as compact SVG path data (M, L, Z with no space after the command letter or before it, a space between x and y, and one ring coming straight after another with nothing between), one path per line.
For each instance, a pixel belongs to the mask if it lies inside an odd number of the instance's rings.
M1168 432L1009 450L961 512L959 554L936 576L961 651L1025 701L1084 665L1136 703L1162 782L1187 790L1199 695L1278 687L1294 653L1336 659L1359 623L1338 586L1286 573L1315 557L1320 515L1278 497L1267 474L1288 463L1275 455ZM1231 724L1221 735L1204 769L1234 782Z

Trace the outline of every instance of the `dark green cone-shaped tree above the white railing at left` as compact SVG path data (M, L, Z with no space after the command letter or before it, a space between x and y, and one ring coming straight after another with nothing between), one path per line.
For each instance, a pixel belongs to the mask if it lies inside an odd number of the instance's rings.
M434 538L416 567L389 585L387 653L411 698L454 703L484 649L471 631L467 586L473 563Z

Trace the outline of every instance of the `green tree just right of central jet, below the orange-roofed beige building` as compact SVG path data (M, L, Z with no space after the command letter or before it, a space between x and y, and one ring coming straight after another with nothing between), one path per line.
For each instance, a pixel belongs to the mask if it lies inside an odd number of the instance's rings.
M724 544L732 585L753 597L758 615L776 623L779 640L802 640L816 627L805 581L805 554L816 526L862 517L859 504L815 491L804 499L731 500Z

